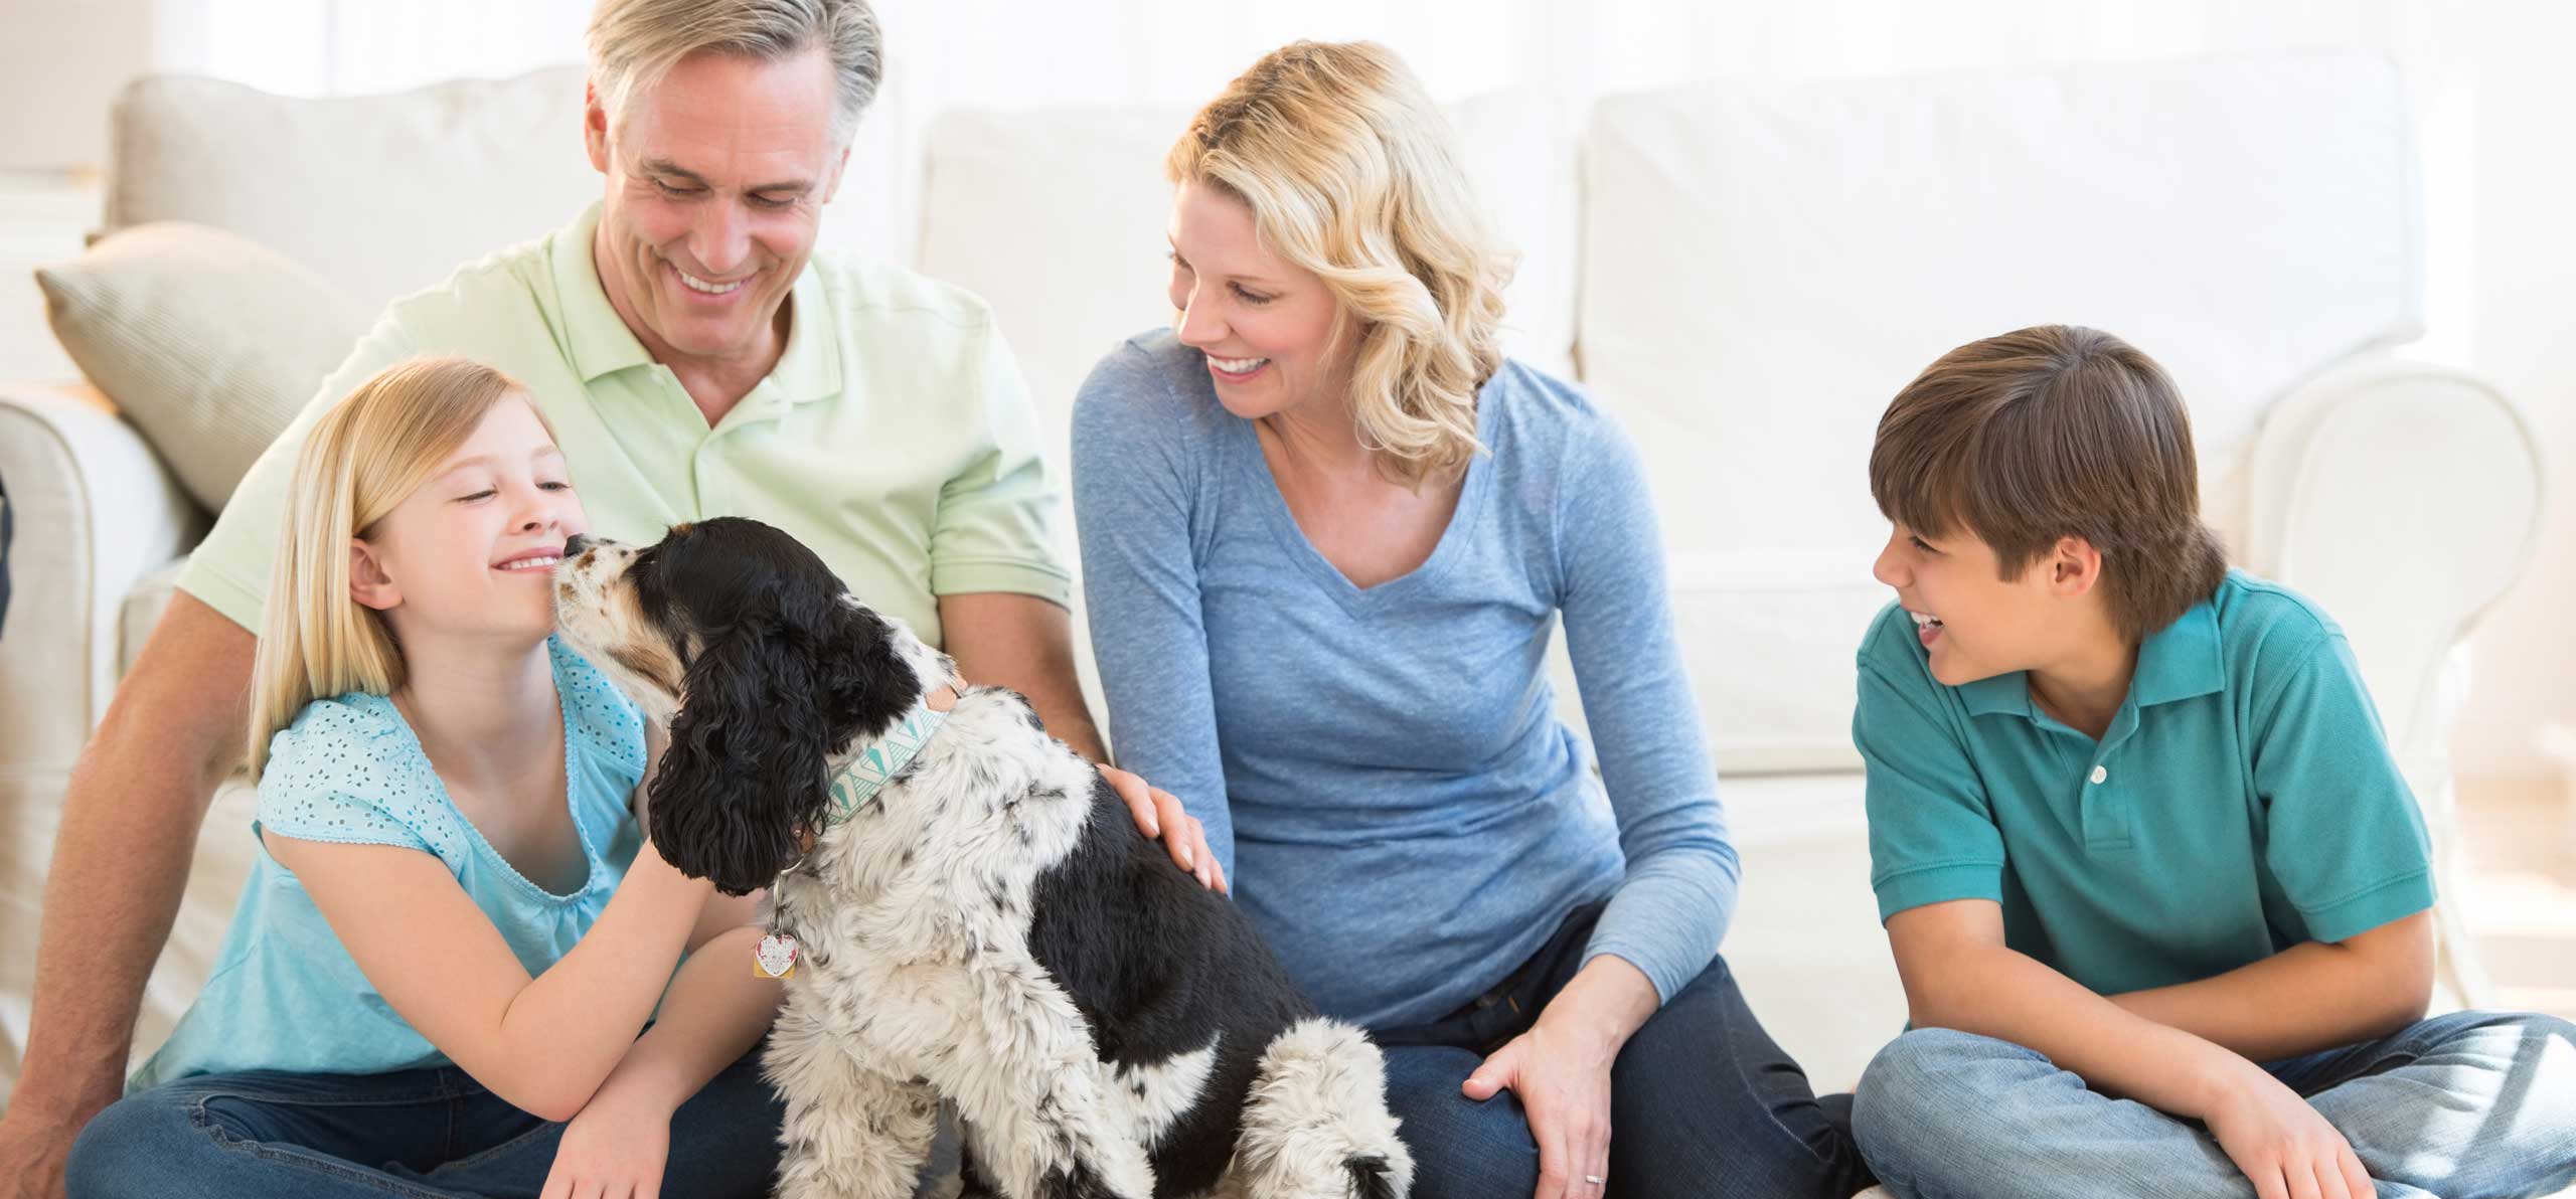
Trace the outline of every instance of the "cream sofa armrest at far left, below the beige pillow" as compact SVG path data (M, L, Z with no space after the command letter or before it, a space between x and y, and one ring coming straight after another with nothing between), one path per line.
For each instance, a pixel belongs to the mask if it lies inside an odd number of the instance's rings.
M116 407L77 383L0 381L0 486L15 525L0 774L67 774L116 695L126 592L209 520Z

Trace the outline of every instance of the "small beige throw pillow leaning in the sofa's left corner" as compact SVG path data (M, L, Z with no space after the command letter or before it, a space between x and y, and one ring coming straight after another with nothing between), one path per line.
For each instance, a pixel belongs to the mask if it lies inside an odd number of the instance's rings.
M273 250L175 221L108 234L36 283L64 352L209 512L368 319Z

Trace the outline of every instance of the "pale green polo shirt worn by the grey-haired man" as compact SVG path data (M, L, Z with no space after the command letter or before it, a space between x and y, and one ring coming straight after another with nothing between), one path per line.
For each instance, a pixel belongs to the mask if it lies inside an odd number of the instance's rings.
M178 587L258 630L286 481L312 425L392 363L466 355L536 396L598 535L649 543L688 520L765 520L933 646L943 594L1069 600L1061 491L984 301L817 255L791 291L778 365L708 430L677 376L608 306L590 257L598 219L592 206L394 301L252 463Z

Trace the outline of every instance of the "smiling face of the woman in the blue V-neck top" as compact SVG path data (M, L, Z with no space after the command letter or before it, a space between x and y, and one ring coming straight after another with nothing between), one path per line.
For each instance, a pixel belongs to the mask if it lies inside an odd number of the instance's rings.
M1260 419L1314 401L1340 407L1355 334L1324 278L1262 247L1252 206L1224 188L1172 196L1172 309L1180 345L1208 355L1226 412Z

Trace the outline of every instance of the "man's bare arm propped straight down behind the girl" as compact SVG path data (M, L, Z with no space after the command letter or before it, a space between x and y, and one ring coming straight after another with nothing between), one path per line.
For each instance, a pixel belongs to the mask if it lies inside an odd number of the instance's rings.
M242 762L258 638L175 592L72 767L44 885L26 1065L0 1189L59 1196L72 1137L124 1094L144 980L170 939L214 787Z

